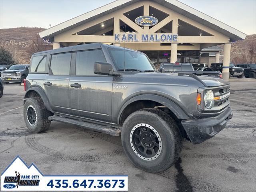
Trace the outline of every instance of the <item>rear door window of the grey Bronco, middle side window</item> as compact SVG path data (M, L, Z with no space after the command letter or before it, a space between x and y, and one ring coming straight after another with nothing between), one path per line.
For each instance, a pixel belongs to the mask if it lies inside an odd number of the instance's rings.
M71 55L71 53L52 55L50 75L69 75Z

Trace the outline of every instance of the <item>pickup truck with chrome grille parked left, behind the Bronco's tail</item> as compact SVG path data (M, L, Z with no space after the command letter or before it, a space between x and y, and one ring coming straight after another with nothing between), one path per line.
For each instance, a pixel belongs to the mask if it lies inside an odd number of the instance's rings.
M12 65L8 70L1 72L1 78L4 83L23 82L28 76L29 65Z

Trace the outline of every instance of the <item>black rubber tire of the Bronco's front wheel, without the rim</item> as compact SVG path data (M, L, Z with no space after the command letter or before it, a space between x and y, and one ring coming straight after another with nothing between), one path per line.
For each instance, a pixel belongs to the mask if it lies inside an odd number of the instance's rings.
M161 138L162 149L156 159L144 160L132 148L131 132L134 126L140 123L153 127ZM176 122L167 113L154 108L145 108L130 114L124 121L121 138L124 152L129 160L136 167L152 173L163 172L170 168L178 160L182 150L182 135Z

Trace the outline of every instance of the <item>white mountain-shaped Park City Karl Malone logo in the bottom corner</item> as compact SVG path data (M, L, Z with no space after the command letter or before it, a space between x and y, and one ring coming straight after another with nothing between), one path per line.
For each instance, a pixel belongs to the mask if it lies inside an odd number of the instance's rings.
M17 156L1 174L2 187L6 189L20 189L20 187L39 186L40 177L42 175L34 164L27 166Z

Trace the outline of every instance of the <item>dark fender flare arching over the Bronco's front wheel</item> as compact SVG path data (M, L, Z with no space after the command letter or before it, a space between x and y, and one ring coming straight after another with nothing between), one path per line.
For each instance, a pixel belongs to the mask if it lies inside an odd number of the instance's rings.
M138 96L134 96L133 98L131 98L130 100L128 100L120 109L119 113L118 113L118 117L117 117L117 122L118 124L120 123L120 118L125 110L125 108L131 104L132 102L138 101L138 100L151 100L154 102L158 102L160 104L162 104L163 106L166 106L168 109L170 109L178 119L180 120L184 120L184 119L189 119L188 114L186 114L184 112L184 110L178 106L178 104L176 104L175 102L173 102L172 100L165 98L163 96L160 95L156 95L156 94L141 94Z

